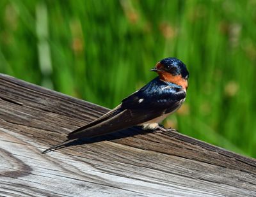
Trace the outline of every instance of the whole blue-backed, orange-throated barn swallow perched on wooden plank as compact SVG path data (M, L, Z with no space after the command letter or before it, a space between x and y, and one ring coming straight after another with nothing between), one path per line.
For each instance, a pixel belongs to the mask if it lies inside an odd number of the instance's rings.
M150 71L155 71L159 76L123 99L120 105L102 117L69 133L66 141L42 153L79 138L102 136L133 126L165 131L166 129L159 126L159 122L179 109L185 101L189 73L186 65L175 57L157 62Z

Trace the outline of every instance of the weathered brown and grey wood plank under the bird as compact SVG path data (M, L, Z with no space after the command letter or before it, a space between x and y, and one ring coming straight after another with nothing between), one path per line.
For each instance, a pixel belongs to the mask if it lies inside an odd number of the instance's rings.
M0 75L0 195L256 196L256 161L128 129L42 155L107 108Z

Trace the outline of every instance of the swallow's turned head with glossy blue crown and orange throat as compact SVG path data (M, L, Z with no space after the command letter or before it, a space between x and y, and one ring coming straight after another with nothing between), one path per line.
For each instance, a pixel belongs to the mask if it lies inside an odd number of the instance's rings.
M161 80L188 88L189 73L186 65L175 57L162 59L150 71L156 71Z

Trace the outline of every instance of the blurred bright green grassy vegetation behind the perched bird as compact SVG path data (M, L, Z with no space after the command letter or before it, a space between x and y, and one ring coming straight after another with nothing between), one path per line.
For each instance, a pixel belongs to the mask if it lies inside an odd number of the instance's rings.
M256 157L256 1L0 1L0 72L113 108L164 57L189 69L166 126Z

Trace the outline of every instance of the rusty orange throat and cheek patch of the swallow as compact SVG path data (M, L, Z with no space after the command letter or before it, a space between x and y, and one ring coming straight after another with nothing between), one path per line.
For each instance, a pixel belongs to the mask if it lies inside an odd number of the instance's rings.
M157 72L159 78L166 82L180 85L184 90L188 89L188 80L181 77L181 75L172 75L170 73L159 71Z

